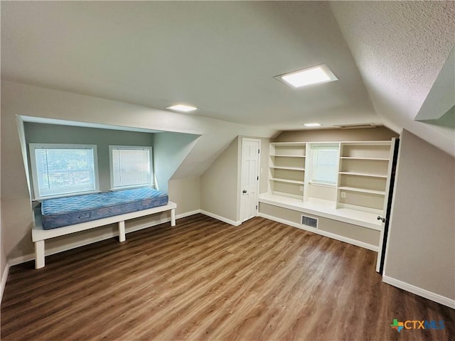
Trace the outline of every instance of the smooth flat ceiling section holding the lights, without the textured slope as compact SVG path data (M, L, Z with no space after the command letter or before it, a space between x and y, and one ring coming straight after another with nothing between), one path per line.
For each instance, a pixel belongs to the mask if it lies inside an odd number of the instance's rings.
M1 6L4 80L300 129L373 122L355 62L324 1L14 1ZM273 77L326 63L337 82Z

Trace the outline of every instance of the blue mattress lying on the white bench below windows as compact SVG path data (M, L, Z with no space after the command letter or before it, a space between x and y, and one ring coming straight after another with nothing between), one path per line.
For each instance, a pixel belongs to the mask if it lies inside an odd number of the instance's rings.
M114 215L167 205L168 195L154 188L58 197L41 203L43 229L55 229Z

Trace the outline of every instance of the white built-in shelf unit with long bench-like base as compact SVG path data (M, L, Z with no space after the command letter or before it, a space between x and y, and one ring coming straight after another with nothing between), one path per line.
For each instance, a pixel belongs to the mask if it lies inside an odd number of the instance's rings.
M259 195L259 215L378 251L383 227L378 216L385 217L392 146L395 139L271 143L269 190ZM330 176L322 178L325 183L311 180L330 148L338 153L336 162L333 156L326 159ZM321 226L305 226L300 215L319 219Z

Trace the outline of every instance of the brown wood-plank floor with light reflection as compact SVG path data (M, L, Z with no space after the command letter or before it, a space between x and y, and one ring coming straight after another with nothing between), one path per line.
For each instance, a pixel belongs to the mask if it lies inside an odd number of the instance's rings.
M1 340L455 340L455 310L382 283L375 256L194 215L11 267ZM394 319L445 328L399 333Z

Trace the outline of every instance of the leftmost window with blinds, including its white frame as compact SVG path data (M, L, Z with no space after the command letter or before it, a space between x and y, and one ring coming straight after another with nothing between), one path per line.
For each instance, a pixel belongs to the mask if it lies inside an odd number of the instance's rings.
M98 191L97 147L29 144L35 199Z

